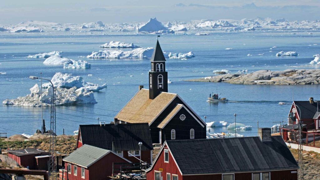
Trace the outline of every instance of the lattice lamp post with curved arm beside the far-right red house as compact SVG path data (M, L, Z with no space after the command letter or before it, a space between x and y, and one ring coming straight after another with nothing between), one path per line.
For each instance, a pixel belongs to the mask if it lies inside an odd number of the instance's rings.
M313 98L312 98L312 100L313 100ZM310 101L310 103L311 103L311 101ZM300 110L299 106L295 105L294 103L290 104L290 103L285 103L285 102L279 102L278 104L280 104L280 105L284 105L284 104L292 105L292 106L295 106L296 108L298 108L298 110L299 110L299 140L298 140L298 151L299 151L299 153L298 153L298 161L299 161L299 167L300 167L299 176L300 176L300 180L302 180L303 179L303 156L302 156L303 146L302 146L302 135L301 135L301 133L302 133L301 110Z

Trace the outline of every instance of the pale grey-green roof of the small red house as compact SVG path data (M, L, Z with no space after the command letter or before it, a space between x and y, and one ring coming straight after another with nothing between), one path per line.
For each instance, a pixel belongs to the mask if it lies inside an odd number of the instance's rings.
M94 162L107 155L109 152L111 151L85 144L76 151L73 151L67 157L63 158L63 160L84 168L88 168Z

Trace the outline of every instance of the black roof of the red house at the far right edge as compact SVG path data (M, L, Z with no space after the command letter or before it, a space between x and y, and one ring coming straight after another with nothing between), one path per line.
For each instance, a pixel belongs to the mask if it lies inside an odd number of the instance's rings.
M314 119L315 114L317 113L317 103L314 102L310 104L309 101L294 101L294 104L299 106L301 109L300 119ZM297 108L299 113L299 109ZM320 111L320 110L318 110Z

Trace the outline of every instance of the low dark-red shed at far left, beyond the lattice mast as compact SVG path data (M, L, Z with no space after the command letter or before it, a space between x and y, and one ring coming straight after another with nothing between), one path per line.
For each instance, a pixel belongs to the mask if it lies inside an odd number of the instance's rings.
M35 148L8 150L9 158L32 170L48 170L49 152Z

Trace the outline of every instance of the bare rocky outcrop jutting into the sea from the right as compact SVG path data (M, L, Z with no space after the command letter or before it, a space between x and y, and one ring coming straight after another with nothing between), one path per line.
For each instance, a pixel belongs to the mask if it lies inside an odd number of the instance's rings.
M244 85L315 85L320 84L320 70L259 70L248 74L222 74L186 81L226 82Z

